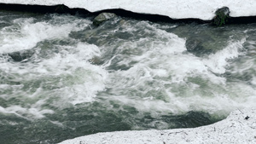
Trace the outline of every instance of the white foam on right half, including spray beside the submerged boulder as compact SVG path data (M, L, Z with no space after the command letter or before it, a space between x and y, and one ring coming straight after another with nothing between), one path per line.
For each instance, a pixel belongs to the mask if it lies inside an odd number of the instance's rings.
M142 55L120 58L117 65L130 68L109 74L107 85L112 91L108 99L153 115L189 111L226 114L236 107L253 106L250 101L255 101L255 89L250 85L227 84L220 75L230 66L230 60L244 55L242 44L246 38L231 39L217 53L197 57L186 52L185 39L148 23L143 26L146 32L150 29L149 33L154 33L154 40L144 37L134 42L137 44L124 43L122 48L132 50L143 45L140 49L144 51Z

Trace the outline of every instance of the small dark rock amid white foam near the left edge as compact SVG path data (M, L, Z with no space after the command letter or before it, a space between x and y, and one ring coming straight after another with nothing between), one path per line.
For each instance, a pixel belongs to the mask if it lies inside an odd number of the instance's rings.
M15 61L22 61L31 58L34 53L34 50L27 49L9 53L8 55Z

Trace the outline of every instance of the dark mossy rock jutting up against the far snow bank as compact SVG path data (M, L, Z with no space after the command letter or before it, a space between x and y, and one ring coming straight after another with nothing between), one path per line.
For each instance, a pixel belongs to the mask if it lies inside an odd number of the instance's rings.
M215 12L216 16L213 18L213 24L216 26L224 25L230 18L230 9L228 7L223 7L217 9Z

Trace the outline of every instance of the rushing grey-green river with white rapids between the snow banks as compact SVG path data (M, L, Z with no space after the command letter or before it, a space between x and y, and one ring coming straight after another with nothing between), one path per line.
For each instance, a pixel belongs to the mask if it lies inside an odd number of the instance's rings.
M3 144L196 127L256 102L256 24L0 12L0 33Z

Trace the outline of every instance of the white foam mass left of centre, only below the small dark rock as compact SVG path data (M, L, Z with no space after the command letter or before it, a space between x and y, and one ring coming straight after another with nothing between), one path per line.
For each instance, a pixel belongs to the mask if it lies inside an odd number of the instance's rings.
M88 61L93 55L100 55L97 47L78 43L66 49L76 50L74 53L72 50L63 50L61 54L42 60L36 65L26 63L17 67L17 64L10 64L9 68L5 69L4 73L15 75L14 81L21 82L15 88L5 85L3 89L12 89L12 95L1 97L8 101L13 96L20 95L18 99L25 100L28 104L26 107L6 107L7 112L27 112L36 118L43 118L45 113L53 113L52 110L43 108L45 104L60 108L65 107L64 103L75 105L93 101L96 92L104 89L107 74L101 66L92 65ZM51 101L55 99L59 100Z

